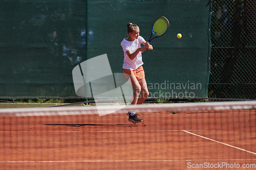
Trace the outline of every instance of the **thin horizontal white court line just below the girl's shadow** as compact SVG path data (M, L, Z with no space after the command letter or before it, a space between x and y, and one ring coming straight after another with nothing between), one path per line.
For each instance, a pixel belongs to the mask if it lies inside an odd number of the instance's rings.
M0 133L81 133L81 132L173 132L184 130L148 130L148 131L0 131ZM205 131L205 130L186 130L186 131Z

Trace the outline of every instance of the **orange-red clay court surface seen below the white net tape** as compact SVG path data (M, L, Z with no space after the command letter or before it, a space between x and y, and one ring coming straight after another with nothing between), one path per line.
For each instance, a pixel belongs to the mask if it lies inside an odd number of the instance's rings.
M0 117L0 169L255 169L255 110Z

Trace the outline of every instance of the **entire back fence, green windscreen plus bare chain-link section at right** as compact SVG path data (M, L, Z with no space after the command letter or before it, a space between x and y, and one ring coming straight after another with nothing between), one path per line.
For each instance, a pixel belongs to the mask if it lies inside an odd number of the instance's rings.
M142 54L151 96L256 97L253 0L4 0L0 9L1 99L78 98L73 68L107 54L113 74L122 72L126 23L147 40L161 15L170 29Z

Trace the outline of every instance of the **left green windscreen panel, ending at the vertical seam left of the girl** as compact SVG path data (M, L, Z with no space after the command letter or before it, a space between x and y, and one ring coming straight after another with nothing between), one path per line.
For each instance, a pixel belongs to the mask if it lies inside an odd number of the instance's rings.
M1 1L0 96L75 96L73 67L85 60L87 3Z

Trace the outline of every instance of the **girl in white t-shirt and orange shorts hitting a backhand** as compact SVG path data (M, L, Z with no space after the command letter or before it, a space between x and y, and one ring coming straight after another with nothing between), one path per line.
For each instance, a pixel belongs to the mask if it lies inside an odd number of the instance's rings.
M153 50L153 46L140 36L139 27L133 23L127 24L127 33L129 37L124 38L121 42L124 53L123 72L126 80L129 80L134 88L131 104L139 105L142 104L148 96L141 53L143 53L146 48ZM144 45L143 47L141 47L141 43ZM141 95L139 96L140 93ZM142 121L141 118L137 117L135 111L127 112L127 115L129 116L128 120L134 124Z

